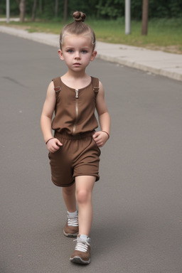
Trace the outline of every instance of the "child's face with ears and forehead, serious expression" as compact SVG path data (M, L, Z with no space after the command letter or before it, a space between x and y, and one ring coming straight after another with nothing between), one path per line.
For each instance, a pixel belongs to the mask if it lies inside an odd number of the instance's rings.
M93 51L90 36L70 34L63 39L62 50L58 50L60 59L64 60L68 69L85 70L90 61L95 59L97 51Z

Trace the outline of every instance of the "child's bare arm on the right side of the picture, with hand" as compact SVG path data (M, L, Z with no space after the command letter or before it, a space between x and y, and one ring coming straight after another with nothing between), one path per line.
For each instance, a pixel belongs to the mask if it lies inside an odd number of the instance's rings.
M107 111L107 105L105 103L105 91L102 83L100 82L100 90L96 99L96 109L99 117L100 132L96 132L93 135L93 139L95 140L97 146L102 147L105 145L106 141L109 139L110 134L110 117Z

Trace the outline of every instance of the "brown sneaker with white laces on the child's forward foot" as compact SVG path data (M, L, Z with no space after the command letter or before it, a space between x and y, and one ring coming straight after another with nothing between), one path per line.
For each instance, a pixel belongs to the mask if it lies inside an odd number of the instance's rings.
M70 262L90 264L90 238L87 237L87 240L84 240L79 235L74 241L77 241L77 245L73 255L70 257Z

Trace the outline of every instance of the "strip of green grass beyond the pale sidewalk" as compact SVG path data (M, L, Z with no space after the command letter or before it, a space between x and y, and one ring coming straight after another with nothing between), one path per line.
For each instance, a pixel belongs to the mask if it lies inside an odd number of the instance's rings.
M87 20L95 30L97 41L107 43L122 43L140 46L153 50L163 50L182 54L182 18L153 19L149 21L148 35L141 36L141 21L132 21L131 34L124 33L124 18L117 20ZM0 25L7 25L0 23ZM26 21L25 23L11 22L9 26L24 28L30 32L60 33L63 22L60 21Z

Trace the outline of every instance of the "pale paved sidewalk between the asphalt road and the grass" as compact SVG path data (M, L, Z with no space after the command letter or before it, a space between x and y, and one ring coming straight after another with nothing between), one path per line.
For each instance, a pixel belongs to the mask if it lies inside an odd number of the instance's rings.
M0 32L59 47L58 35L48 33L28 33L28 31L0 26ZM102 60L127 65L132 68L182 80L182 54L164 53L129 45L97 42L97 57Z

